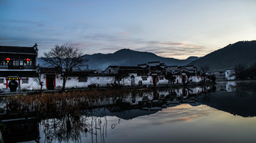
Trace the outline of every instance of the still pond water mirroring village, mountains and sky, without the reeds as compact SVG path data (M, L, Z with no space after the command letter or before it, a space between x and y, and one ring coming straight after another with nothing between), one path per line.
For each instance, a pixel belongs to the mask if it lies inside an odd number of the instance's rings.
M90 101L90 109L75 114L1 120L1 140L256 142L255 87L255 81L229 81L101 98ZM3 101L1 116L6 115L5 104Z

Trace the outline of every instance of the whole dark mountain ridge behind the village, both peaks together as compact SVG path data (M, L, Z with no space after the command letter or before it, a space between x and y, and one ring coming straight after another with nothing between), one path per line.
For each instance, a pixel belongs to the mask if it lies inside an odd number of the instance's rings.
M208 66L210 71L234 69L236 65L242 64L249 67L256 63L256 40L239 41L227 45L219 50L210 52L203 57L188 57L187 59L174 59L169 57L160 57L152 52L139 52L130 49L121 49L113 53L102 54L95 53L84 55L89 59L88 69L105 70L108 66L137 66L147 62L164 62L168 66L193 65L201 69ZM39 64L43 65L42 59L38 58Z

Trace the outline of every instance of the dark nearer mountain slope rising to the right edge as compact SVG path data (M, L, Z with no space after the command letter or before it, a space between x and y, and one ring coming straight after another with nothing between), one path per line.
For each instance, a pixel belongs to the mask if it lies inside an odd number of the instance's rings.
M256 40L240 41L223 47L220 50L196 59L189 63L200 69L208 66L210 71L233 69L236 65L242 64L249 67L256 62Z

